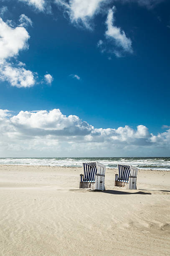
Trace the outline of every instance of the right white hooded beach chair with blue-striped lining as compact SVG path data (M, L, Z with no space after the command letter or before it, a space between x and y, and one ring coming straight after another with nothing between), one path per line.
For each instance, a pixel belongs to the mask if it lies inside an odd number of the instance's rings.
M114 186L137 189L136 180L138 169L132 165L117 164L118 174L115 174Z

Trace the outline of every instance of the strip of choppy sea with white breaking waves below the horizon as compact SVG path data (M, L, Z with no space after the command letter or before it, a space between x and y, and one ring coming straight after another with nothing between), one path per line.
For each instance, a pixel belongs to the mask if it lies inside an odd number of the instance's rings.
M170 170L170 157L47 157L47 158L0 158L0 164L76 166L83 162L99 161L107 168L117 168L117 163L133 165L139 169Z

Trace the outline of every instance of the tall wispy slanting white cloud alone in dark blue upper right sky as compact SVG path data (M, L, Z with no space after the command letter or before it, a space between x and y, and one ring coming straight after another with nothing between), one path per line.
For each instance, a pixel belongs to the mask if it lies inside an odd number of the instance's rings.
M124 51L132 53L132 41L130 38L127 38L124 31L121 28L114 26L114 13L116 11L115 6L112 9L109 9L106 25L107 31L105 36L108 39L112 39L116 46L121 47Z

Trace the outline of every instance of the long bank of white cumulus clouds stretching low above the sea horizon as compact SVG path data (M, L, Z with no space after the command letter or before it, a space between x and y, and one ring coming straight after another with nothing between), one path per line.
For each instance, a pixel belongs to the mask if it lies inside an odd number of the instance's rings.
M51 111L20 111L12 115L0 110L0 152L23 151L64 152L143 152L167 149L170 152L170 129L153 135L145 125L136 129L125 125L119 128L95 128L76 115ZM68 153L69 154L69 153ZM123 154L123 153L122 153ZM18 155L20 156L20 155Z

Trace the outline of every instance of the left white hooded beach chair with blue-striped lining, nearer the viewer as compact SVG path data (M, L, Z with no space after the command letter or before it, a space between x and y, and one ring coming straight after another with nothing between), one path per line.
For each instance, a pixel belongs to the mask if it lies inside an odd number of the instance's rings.
M106 166L99 162L83 163L83 174L80 174L79 188L90 188L92 190L105 190Z

